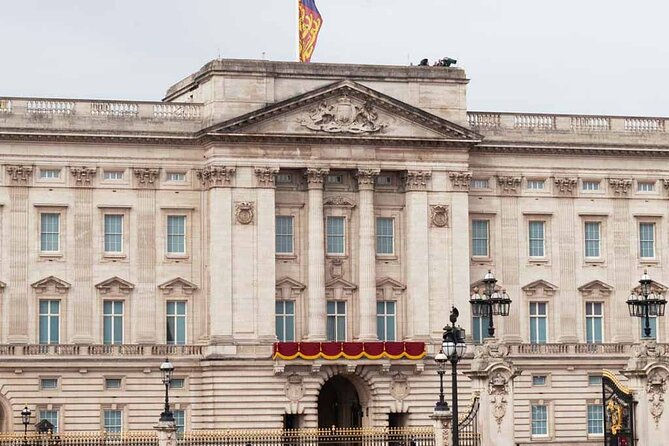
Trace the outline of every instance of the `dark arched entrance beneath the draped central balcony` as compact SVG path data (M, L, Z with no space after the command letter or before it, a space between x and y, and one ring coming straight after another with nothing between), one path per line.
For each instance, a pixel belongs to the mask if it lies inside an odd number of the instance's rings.
M343 376L333 376L318 394L318 427L361 427L362 407L358 391Z

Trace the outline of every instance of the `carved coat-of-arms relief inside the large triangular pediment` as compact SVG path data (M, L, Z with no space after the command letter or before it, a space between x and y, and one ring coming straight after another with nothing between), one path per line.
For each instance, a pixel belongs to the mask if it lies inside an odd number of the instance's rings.
M348 96L342 96L334 101L320 102L297 122L309 130L361 134L376 133L388 126L378 120L379 115L370 101L358 105Z

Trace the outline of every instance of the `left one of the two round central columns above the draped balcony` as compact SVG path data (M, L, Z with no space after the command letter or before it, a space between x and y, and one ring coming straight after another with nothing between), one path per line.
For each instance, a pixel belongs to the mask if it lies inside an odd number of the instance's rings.
M323 230L323 180L330 169L307 169L307 341L325 340L325 232Z

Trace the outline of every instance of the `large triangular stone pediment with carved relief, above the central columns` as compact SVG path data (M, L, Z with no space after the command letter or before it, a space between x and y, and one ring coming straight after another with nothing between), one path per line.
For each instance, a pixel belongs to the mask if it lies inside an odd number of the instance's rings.
M203 131L207 135L478 142L481 135L354 81L337 82Z

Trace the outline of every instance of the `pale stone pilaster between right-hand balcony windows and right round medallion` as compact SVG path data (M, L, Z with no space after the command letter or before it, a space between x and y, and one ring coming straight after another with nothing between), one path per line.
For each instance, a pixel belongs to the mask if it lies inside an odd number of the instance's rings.
M407 338L430 337L430 276L427 186L431 172L410 170L404 176L406 191Z

